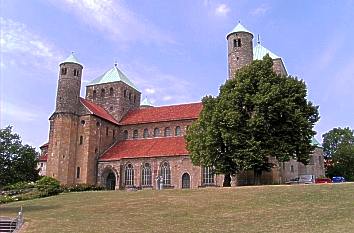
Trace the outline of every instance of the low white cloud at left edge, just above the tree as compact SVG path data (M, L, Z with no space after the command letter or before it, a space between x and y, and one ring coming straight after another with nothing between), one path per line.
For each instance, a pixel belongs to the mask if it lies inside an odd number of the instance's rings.
M31 122L39 116L33 108L27 109L9 102L1 101L1 121L11 119L12 121Z

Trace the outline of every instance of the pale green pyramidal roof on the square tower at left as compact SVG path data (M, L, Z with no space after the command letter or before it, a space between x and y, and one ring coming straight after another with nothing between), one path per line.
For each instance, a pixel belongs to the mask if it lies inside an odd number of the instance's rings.
M114 65L114 67L110 70L108 70L106 73L101 75L100 77L94 79L92 82L90 82L87 86L92 86L96 84L103 84L103 83L112 83L112 82L118 82L121 81L135 90L138 90L138 88L132 83L127 76L123 74L122 71L120 71L117 67L117 65Z

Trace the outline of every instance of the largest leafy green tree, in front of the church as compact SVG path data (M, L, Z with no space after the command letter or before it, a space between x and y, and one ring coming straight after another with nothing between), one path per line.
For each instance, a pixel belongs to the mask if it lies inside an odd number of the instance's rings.
M203 98L200 117L189 128L187 148L194 164L230 175L253 169L256 177L278 161L308 163L314 147L318 107L306 99L302 80L274 73L267 55L227 80L217 97Z

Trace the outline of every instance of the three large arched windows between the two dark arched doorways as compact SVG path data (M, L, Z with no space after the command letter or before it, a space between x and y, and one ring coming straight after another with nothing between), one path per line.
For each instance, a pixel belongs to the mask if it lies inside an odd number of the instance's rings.
M159 175L162 177L164 185L171 185L171 169L168 162L161 164ZM125 186L134 186L134 167L131 163L125 166L124 184ZM152 169L150 163L144 163L141 168L141 185L152 186Z

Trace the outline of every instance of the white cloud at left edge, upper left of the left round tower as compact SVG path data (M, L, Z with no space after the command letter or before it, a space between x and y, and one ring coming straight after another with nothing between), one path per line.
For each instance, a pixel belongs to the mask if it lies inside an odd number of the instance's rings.
M28 30L23 23L0 17L0 28L3 67L21 64L53 69L63 59L55 46Z

